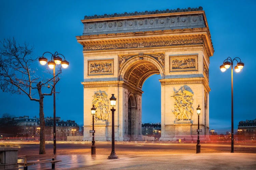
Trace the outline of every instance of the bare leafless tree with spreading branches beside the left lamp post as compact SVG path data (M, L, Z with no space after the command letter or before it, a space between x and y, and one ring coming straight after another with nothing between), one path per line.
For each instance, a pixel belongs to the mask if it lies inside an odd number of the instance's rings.
M61 68L55 75L56 81L53 84L52 78L41 79L36 74L37 69L33 64L38 62L38 58L32 57L33 47L24 43L16 44L16 40L4 39L0 47L0 88L3 92L11 94L25 94L30 100L39 102L40 117L40 148L39 154L45 154L45 122L44 122L44 96L51 96L53 89L59 81ZM52 84L52 87L49 86ZM43 93L42 88L47 87L48 93ZM46 89L47 89L46 88Z

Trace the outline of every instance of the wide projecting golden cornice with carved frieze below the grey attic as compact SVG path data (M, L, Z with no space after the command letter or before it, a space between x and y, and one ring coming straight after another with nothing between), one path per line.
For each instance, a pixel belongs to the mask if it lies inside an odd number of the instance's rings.
M190 35L173 35L173 36L149 36L171 33L193 33ZM204 33L202 33L204 32ZM199 33L199 34L195 34ZM205 34L206 33L206 34ZM139 35L146 37L138 37ZM133 37L126 39L109 39L117 37ZM77 41L83 45L84 51L102 51L102 50L120 50L120 49L136 49L136 48L154 48L154 47L170 47L170 46L186 46L186 45L203 45L207 51L208 57L213 55L213 45L210 38L208 28L183 29L179 31L159 30L134 33L117 33L117 34L102 34L95 36L77 36ZM108 39L105 39L108 38ZM94 40L90 40L94 39ZM95 40L101 39L101 40Z

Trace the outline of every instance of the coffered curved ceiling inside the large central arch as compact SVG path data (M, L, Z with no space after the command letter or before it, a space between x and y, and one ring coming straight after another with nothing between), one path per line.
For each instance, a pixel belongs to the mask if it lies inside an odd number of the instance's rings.
M137 61L131 64L124 74L124 80L133 86L142 88L144 81L153 74L160 74L156 65L150 61Z

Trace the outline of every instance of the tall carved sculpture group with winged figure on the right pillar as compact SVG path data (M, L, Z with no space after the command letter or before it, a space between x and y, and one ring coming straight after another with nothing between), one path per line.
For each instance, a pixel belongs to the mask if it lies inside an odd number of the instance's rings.
M176 120L191 120L194 108L193 91L188 86L182 86L178 91L174 89L174 114Z

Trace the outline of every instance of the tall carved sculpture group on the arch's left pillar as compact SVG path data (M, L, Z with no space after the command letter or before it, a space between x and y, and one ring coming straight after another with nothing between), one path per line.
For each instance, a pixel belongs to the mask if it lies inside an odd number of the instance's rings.
M95 120L109 121L109 99L105 91L95 91L92 104L96 108Z

